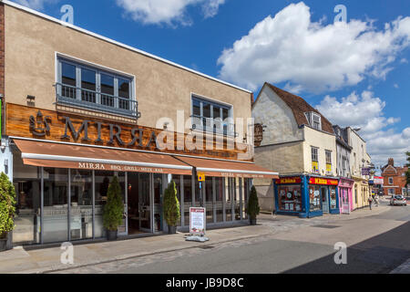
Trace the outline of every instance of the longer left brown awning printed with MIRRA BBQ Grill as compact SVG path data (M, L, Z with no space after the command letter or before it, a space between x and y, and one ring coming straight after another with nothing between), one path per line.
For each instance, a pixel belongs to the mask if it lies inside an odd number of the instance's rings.
M14 139L25 164L113 172L187 174L192 167L170 155Z

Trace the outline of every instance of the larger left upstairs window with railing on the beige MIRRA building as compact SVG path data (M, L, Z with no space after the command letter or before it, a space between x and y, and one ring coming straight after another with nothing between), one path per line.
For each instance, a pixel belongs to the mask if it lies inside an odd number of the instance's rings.
M58 58L57 103L126 115L137 114L133 79Z

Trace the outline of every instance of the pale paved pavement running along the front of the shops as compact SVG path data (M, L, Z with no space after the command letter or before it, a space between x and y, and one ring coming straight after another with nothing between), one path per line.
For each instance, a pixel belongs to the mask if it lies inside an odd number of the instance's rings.
M46 273L65 270L81 266L93 266L99 263L116 262L142 255L156 255L169 252L178 252L184 249L198 249L204 245L220 245L251 238L260 238L268 235L297 234L297 229L306 225L335 224L335 222L352 222L356 218L379 214L389 207L381 206L378 210L366 212L356 211L351 215L329 215L312 219L300 219L289 216L272 216L261 214L256 226L244 225L222 229L209 230L207 243L185 241L187 234L160 235L141 237L115 242L99 242L87 245L74 245L74 265L63 265L60 262L62 250L59 246L43 249L25 250L16 247L11 251L0 253L0 273ZM335 224L337 225L337 224ZM315 227L311 227L314 229ZM319 229L316 227L316 229ZM293 232L291 232L293 231ZM329 244L318 242L317 244Z

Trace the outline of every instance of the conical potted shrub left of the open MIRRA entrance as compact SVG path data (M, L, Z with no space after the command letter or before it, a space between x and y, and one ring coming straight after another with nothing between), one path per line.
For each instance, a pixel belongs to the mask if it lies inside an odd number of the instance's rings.
M104 205L103 224L107 229L108 240L116 240L118 226L122 224L124 203L121 197L121 187L118 177L114 176L108 186L107 203Z

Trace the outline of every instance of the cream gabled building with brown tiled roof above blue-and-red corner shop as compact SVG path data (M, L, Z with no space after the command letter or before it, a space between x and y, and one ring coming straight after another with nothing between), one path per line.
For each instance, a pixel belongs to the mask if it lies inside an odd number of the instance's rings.
M339 214L337 149L329 120L302 98L269 83L253 103L252 116L263 125L255 162L281 174L274 198L266 195L271 192L266 180L254 180L260 200L272 200L277 214Z

